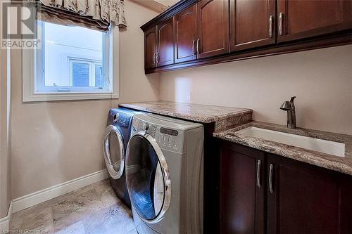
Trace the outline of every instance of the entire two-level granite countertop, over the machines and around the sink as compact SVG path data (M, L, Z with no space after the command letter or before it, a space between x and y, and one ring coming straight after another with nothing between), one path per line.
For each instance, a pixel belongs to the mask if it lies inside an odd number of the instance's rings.
M166 101L121 103L119 106L152 112L158 115L187 119L204 124L214 122L215 129L213 136L216 138L232 141L241 145L247 145L251 148L271 152L275 155L289 157L293 160L352 175L352 136L311 129L288 129L287 126L279 124L252 122L253 111L247 108L230 108L215 105ZM291 145L285 145L283 143L267 141L261 138L245 136L237 133L237 131L249 126L345 143L345 157L337 157L322 152L306 150Z

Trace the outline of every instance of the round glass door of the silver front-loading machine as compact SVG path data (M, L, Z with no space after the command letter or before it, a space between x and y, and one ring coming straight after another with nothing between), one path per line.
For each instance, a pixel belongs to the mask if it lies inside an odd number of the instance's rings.
M146 223L161 221L170 205L170 174L161 148L145 131L127 145L126 183L139 217Z

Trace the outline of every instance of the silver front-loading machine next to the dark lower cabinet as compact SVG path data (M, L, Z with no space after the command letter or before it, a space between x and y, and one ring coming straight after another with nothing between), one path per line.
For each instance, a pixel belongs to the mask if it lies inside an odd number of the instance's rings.
M134 115L126 183L137 231L203 233L203 125Z

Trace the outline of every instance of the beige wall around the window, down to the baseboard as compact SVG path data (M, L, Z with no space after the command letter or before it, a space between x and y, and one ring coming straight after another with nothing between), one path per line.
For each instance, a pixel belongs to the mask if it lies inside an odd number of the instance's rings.
M104 168L101 137L108 109L119 101L158 100L158 77L144 75L139 26L156 13L125 1L120 32L120 100L22 102L21 51L12 51L12 197ZM118 67L118 65L116 65Z

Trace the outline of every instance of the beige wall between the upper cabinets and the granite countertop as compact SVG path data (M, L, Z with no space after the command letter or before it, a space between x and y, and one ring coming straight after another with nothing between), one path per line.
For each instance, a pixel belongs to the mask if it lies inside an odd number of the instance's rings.
M352 45L165 72L161 100L253 109L253 119L286 123L279 110L297 96L297 124L352 135Z

